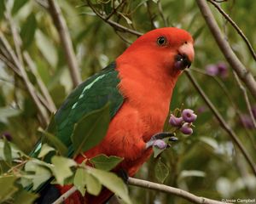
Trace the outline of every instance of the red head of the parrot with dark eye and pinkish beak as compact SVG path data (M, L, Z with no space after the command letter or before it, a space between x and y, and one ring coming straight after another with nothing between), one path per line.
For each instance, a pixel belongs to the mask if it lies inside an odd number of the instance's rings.
M122 55L129 55L136 62L143 61L143 66L159 66L161 71L176 75L191 65L195 56L193 44L188 31L165 27L138 37Z

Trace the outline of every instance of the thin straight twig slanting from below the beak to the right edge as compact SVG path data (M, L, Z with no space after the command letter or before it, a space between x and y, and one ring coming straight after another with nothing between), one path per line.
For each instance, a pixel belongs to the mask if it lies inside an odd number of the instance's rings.
M195 80L193 75L189 71L185 71L187 77L189 77L190 82L194 85L195 89L199 94L201 94L202 99L206 102L210 110L212 111L213 115L217 118L219 124L221 127L224 128L224 130L230 135L230 138L234 141L234 143L237 145L239 150L241 150L241 154L245 157L247 160L247 163L252 168L252 171L254 175L256 176L256 166L254 164L253 158L247 153L246 148L241 144L241 141L238 139L236 133L233 131L233 129L230 127L230 125L224 121L224 118L220 115L217 108L212 104L212 101L207 97L207 94L201 89L198 82Z

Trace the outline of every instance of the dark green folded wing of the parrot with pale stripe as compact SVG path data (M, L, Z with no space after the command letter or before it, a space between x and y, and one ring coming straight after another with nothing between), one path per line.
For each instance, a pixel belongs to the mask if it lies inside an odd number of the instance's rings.
M117 88L120 80L115 63L108 65L100 73L90 77L73 90L55 114L55 135L67 146L71 145L71 134L76 122L90 113L110 103L113 117L124 102Z

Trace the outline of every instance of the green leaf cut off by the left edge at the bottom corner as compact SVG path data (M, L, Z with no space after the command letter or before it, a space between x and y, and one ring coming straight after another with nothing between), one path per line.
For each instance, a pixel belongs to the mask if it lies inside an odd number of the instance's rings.
M0 201L5 201L10 198L18 189L15 187L17 178L12 175L0 176ZM4 186L4 187L3 187Z

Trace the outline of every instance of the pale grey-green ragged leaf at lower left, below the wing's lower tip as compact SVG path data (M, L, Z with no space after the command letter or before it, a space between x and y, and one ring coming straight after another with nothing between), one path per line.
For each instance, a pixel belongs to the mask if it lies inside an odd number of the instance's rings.
M23 175L23 177L32 180L32 190L37 190L41 184L44 184L51 177L49 169L41 166L36 159L26 162L25 171L28 174ZM30 172L33 174L29 174Z

